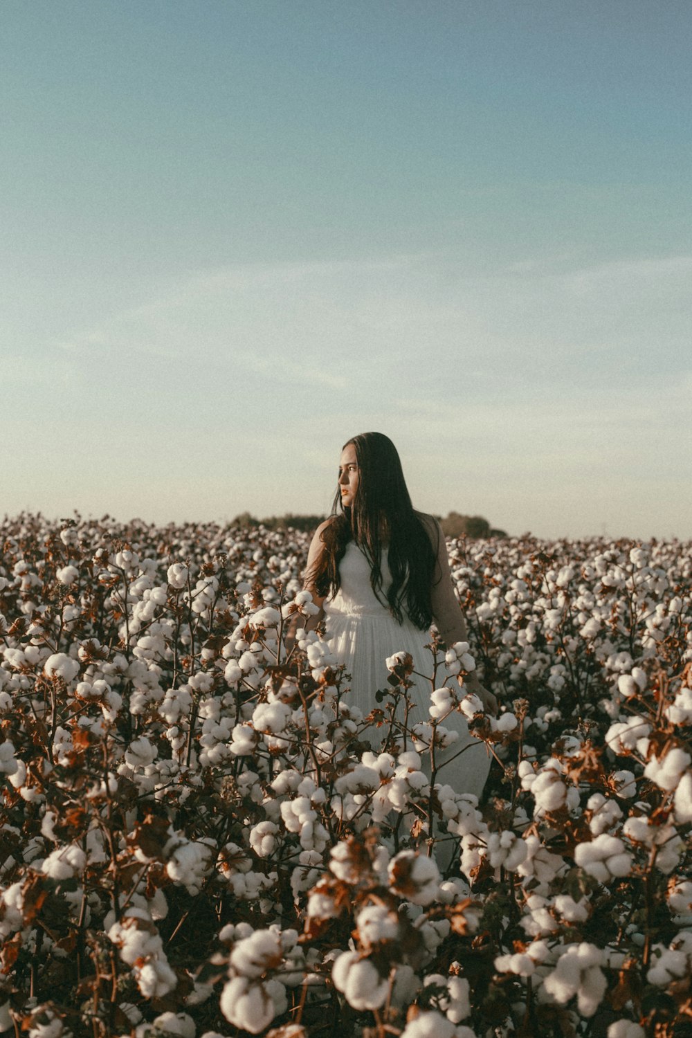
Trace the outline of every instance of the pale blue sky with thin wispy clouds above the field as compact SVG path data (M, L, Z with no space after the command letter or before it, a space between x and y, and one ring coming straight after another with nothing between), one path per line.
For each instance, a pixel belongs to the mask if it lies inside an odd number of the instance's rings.
M0 515L692 538L689 0L4 0Z

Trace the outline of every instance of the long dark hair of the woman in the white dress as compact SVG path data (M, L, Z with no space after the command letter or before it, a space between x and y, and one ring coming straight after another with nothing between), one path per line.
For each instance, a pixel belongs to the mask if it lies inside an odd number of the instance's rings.
M406 612L416 627L426 630L433 622L436 553L413 510L396 447L382 433L361 433L341 449L350 444L356 450L358 489L349 507L341 503L337 486L332 519L322 532L325 550L310 581L319 595L335 594L339 563L349 541L355 541L370 564L370 584L382 602L382 549L383 541L388 542L392 582L387 605L399 624Z

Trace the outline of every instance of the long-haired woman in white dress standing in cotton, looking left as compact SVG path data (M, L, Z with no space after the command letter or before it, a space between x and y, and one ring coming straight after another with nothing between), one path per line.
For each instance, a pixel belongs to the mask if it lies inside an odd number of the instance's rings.
M387 685L385 660L393 653L411 653L418 675L432 673L424 647L433 621L446 645L466 640L440 525L414 511L396 447L382 433L354 436L343 446L332 514L312 538L305 588L321 610L310 626L326 619L334 655L352 678L349 701L364 714ZM432 691L430 681L413 677L410 727L430 721ZM465 684L497 712L495 696L474 675ZM469 736L458 711L441 723L459 738L436 752L440 781L479 795L490 767L485 744Z

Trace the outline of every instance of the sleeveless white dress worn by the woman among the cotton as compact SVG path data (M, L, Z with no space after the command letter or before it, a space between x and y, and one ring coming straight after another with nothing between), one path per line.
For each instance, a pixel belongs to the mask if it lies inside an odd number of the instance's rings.
M383 588L380 595L386 602L392 579L386 548L382 550L381 569ZM327 638L335 657L339 663L345 663L347 674L351 675L351 681L347 682L350 690L345 693L345 701L366 715L381 705L375 699L376 691L388 687L389 671L385 662L388 656L395 652L409 652L413 656L414 670L426 679L432 676L433 656L425 649L431 633L421 631L406 617L399 624L389 607L379 601L370 584L369 563L354 541L347 545L339 564L339 577L341 586L324 603ZM430 695L433 690L430 680L415 675L412 677L415 684L410 690L413 703L410 727L418 721L430 722ZM444 668L442 673L438 671L439 684L444 677ZM436 749L436 782L448 784L456 793L474 793L479 797L490 770L486 744L469 735L466 720L459 711L449 714L440 723L446 729L453 729L459 737L446 749ZM384 733L384 727L372 727L365 732L376 752ZM422 756L424 769L430 775L430 756L427 753Z

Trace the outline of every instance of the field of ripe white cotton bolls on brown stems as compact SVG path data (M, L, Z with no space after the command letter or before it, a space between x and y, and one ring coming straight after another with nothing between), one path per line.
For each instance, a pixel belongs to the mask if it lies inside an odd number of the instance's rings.
M305 632L307 535L0 534L0 1030L692 1033L689 544L449 542L470 644L409 731L410 657L365 717Z

